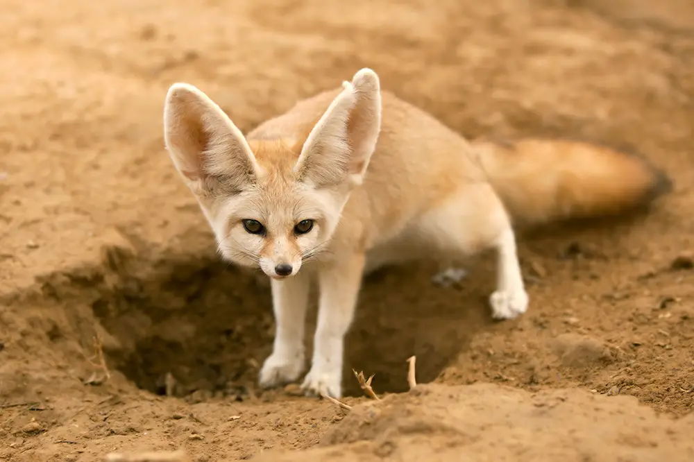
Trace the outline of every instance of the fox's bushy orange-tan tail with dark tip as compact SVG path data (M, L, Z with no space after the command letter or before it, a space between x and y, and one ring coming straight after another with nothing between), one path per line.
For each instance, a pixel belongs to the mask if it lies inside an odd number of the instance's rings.
M527 138L473 146L516 225L623 214L672 189L647 160L587 142Z

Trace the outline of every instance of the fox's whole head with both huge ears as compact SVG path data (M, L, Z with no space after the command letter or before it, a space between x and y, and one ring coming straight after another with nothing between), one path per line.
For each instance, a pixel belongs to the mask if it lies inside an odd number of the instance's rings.
M280 279L328 247L369 166L380 121L371 69L344 82L305 139L292 144L248 142L208 96L176 83L164 104L164 141L221 255Z

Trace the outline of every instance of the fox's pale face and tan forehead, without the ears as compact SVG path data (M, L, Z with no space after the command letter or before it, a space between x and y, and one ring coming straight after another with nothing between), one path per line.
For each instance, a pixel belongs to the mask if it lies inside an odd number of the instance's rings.
M215 234L224 258L259 267L270 277L289 277L305 262L323 255L348 189L316 189L299 181L291 168L296 151L281 140L252 145L262 175L238 194L227 192L203 200L203 209L216 209L208 214L212 228L218 230Z

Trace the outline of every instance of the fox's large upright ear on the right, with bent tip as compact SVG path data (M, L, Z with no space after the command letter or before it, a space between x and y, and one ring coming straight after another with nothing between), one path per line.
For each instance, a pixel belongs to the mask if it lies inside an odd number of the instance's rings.
M345 181L359 185L378 140L381 92L376 73L362 69L342 87L311 130L294 166L299 180L315 187Z

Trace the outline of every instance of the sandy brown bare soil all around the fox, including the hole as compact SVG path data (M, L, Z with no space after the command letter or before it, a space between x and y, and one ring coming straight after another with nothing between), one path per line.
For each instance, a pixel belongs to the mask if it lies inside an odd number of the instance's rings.
M691 1L1 5L0 460L694 460ZM161 120L177 80L248 130L362 66L468 137L634 146L675 191L528 237L518 320L492 322L486 258L373 275L346 367L384 399L347 370L343 412L256 388L269 294L217 259ZM407 393L412 354L434 383Z

